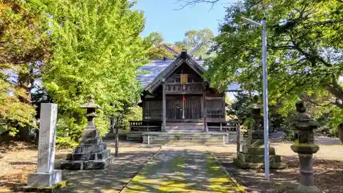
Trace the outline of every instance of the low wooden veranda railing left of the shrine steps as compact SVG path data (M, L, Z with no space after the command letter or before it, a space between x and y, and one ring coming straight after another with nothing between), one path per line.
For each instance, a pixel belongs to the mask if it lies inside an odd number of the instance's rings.
M129 121L130 131L161 131L162 122L161 121Z

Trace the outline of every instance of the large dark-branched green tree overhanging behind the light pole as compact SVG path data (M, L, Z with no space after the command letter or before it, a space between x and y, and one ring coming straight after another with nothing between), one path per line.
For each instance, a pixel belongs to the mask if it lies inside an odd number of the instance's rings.
M331 112L332 128L342 120L343 3L338 0L246 0L230 5L207 61L208 76L217 86L239 82L248 91L262 90L261 28L240 16L261 21L268 12L268 91L279 98L283 113L296 100ZM239 74L236 75L236 71ZM301 95L300 95L301 94ZM316 99L326 97L326 102Z

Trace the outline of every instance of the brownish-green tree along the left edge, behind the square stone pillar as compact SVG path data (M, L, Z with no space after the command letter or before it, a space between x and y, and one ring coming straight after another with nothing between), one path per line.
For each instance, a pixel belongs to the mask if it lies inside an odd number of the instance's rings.
M0 133L20 131L23 139L34 120L32 85L44 67L39 61L51 55L45 3L0 1Z

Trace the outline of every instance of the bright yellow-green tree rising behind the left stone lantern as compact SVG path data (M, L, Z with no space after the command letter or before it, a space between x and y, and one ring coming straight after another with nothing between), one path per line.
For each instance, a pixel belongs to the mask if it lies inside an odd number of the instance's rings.
M95 121L104 135L116 111L110 104L121 106L121 101L139 96L135 77L136 69L146 63L139 36L144 19L132 5L126 0L77 0L49 6L54 53L43 82L60 107L60 136L68 128L67 138L78 139L85 124L79 107L90 98L103 107Z

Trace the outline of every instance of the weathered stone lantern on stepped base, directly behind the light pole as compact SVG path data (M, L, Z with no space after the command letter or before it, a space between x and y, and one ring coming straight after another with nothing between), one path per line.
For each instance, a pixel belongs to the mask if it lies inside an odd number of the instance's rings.
M252 117L252 123L248 126L248 139L246 145L238 152L238 157L233 159L233 163L239 168L264 168L263 117L258 100L258 96L255 96L254 103L248 106ZM287 168L285 163L281 163L281 156L275 155L275 148L271 146L269 155L270 168Z

